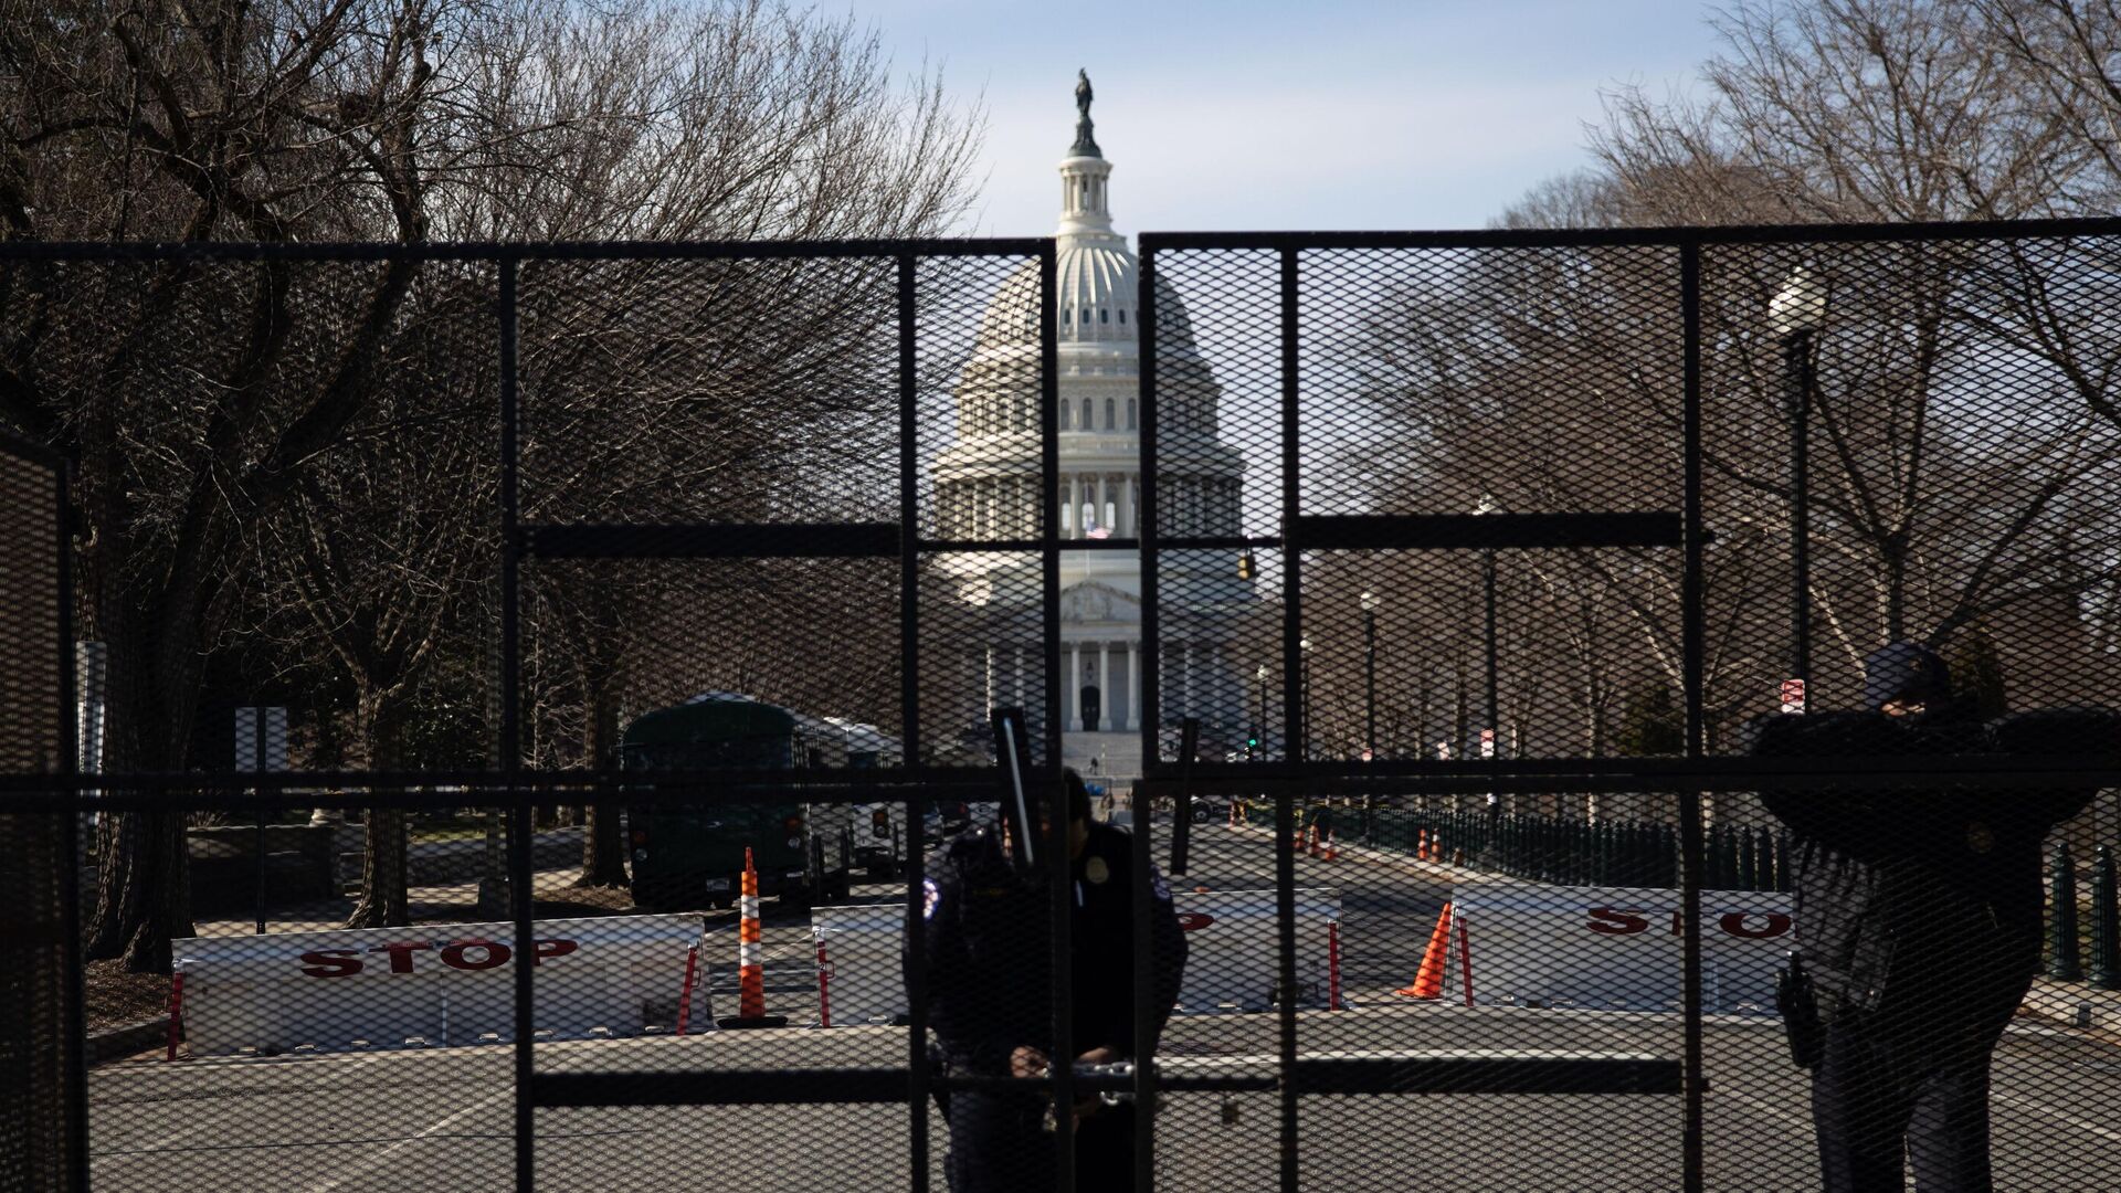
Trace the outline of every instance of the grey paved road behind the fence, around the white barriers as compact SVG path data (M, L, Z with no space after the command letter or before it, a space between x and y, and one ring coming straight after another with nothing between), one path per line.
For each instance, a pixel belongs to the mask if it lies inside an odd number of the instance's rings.
M1256 834L1203 830L1190 885L1268 885ZM1389 993L1419 964L1449 875L1389 860L1300 862L1304 885L1343 898L1343 968L1353 1010L1300 1017L1300 1049L1483 1049L1680 1053L1673 1015L1463 1008ZM889 900L891 887L861 898ZM723 917L711 917L715 921ZM768 1002L814 1015L802 923L770 915ZM717 974L719 976L719 974ZM725 996L717 996L717 1010ZM1247 1064L1275 1053L1268 1015L1173 1023L1167 1055ZM1780 1025L1707 1025L1710 1189L1807 1191L1805 1087ZM717 1032L691 1038L573 1040L539 1049L551 1070L715 1072L776 1066L901 1064L893 1027ZM511 1053L435 1049L367 1055L125 1061L91 1074L98 1189L507 1189ZM2121 1189L2121 1047L2064 1027L2015 1027L1996 1061L1998 1189ZM1270 1189L1273 1093L1175 1095L1158 1125L1167 1189ZM1667 1191L1678 1185L1676 1097L1455 1095L1307 1097L1309 1189ZM558 1110L537 1121L539 1189L906 1189L912 1117L895 1106ZM944 1148L931 1123L931 1148ZM933 1182L942 1187L940 1178Z

